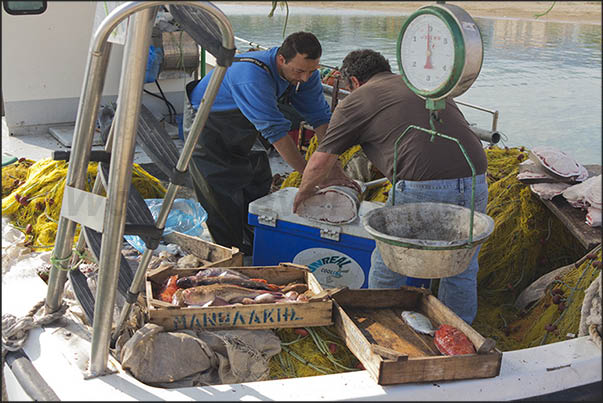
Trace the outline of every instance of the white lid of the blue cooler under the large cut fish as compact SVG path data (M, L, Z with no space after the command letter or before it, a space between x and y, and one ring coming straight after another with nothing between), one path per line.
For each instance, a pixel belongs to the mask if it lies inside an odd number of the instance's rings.
M249 203L249 214L269 216L276 220L287 221L313 228L337 228L342 234L352 235L360 238L373 239L373 237L362 226L362 216L369 211L383 207L383 203L363 201L360 203L358 217L349 224L320 223L294 214L293 200L297 194L297 188L287 187L274 193L261 197Z

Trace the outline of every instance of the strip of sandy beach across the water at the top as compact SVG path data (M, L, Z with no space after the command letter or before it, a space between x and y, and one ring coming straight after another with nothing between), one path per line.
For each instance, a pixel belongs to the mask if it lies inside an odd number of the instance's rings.
M288 2L290 13L296 7L344 8L357 10L396 10L411 13L417 8L435 4L435 1L295 1ZM447 1L463 7L473 17L519 18L549 22L572 22L601 25L601 1ZM554 5L553 5L554 3ZM248 2L248 4L266 5L270 11L270 2ZM537 14L552 9L544 16ZM281 12L280 9L278 11Z

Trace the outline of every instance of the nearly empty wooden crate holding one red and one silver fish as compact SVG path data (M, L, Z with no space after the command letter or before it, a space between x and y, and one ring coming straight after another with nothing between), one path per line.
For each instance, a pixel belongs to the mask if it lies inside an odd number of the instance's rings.
M490 378L500 373L502 353L429 290L350 290L333 293L333 320L350 351L380 385ZM402 320L405 310L427 316L437 329L448 324L461 330L477 354L444 356L433 337L419 334Z

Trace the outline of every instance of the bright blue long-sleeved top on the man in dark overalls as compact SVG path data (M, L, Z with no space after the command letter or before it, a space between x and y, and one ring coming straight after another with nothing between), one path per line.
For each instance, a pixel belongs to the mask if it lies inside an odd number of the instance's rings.
M286 119L277 107L278 97L289 86L289 82L278 74L277 51L278 47L275 47L244 54L245 57L253 57L264 62L270 68L272 75L254 63L234 62L226 70L211 108L212 112L239 109L271 144L284 137L291 128L291 121ZM213 70L203 77L192 91L191 104L195 110L199 108L212 72ZM330 120L331 110L322 92L318 70L307 82L300 84L297 93L293 89L291 105L313 127Z

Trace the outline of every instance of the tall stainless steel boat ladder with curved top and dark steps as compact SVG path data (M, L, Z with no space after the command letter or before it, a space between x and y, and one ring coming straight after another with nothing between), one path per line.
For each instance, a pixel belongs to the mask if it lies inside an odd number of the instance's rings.
M149 127L139 125L144 75L151 43L152 27L159 6L169 4L174 18L197 43L216 57L216 67L212 73L205 96L199 105L189 135L177 162L172 161L169 185L157 220L152 219L144 200L131 185L132 164L136 145L137 130L147 134L143 142L153 148L154 138ZM118 108L107 140L105 151L92 152L94 126L104 79L106 75L111 43L107 40L112 31L126 18L132 16L128 24L127 40L124 48L124 60L118 92ZM77 120L74 130L72 152L63 155L69 160L69 168L65 182L63 205L59 218L52 252L53 262L48 280L45 310L56 312L62 305L63 291L70 273L72 284L77 281L79 271L70 265L76 224L81 224L82 234L77 250L84 248L84 239L99 263L99 277L96 301L87 287L82 287L78 299L92 298L93 312L87 312L92 320L92 344L90 354L89 375L91 377L108 373L107 362L111 342L111 327L115 304L115 291L123 291L124 284L129 284L125 292L124 305L117 334L129 315L132 304L142 290L147 266L153 250L157 248L167 216L172 208L176 193L185 182L188 164L192 156L201 130L205 126L211 106L218 92L226 69L232 64L235 53L234 34L226 16L210 2L201 1L133 1L114 9L100 24L93 34L84 84L80 97ZM148 121L143 118L142 121ZM143 136L144 133L141 135ZM150 134L149 134L150 133ZM139 140L140 141L140 140ZM161 144L155 146L161 152ZM147 149L145 149L147 151ZM56 158L56 156L55 156ZM92 160L99 161L99 170L93 192L85 191L87 167ZM167 158L168 161L172 160ZM107 166L108 163L108 166ZM169 162L168 162L169 163ZM100 196L101 181L104 182L106 197ZM134 207L136 206L136 207ZM144 206L144 207L143 207ZM148 220L149 216L151 217ZM124 234L140 235L146 243L146 249L133 275L124 269L124 257L121 254ZM127 264L127 263L126 263ZM120 270L121 267L121 270ZM80 273L81 275L81 273ZM80 278L81 280L81 278ZM74 286L75 290L75 286ZM88 301L90 303L90 301Z

